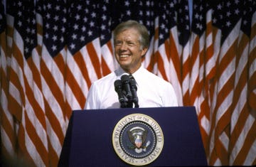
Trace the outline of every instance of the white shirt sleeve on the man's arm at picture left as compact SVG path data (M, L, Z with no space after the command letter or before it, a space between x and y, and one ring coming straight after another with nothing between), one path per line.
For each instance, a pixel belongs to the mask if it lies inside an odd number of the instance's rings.
M92 83L85 102L85 109L99 109L97 86Z

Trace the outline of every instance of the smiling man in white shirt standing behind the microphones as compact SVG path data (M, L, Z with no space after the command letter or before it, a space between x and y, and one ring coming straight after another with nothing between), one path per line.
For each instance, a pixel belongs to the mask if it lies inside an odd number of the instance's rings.
M123 75L132 75L136 81L139 107L178 106L170 82L142 67L142 58L149 48L149 33L137 21L125 21L114 29L114 56L119 68L92 83L85 109L120 108L114 82Z

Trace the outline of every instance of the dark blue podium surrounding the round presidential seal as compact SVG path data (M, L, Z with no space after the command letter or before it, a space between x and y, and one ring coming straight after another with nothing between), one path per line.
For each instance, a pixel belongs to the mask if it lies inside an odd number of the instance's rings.
M58 166L131 166L114 151L112 134L120 119L140 113L153 118L164 145L148 166L207 166L195 107L75 110Z

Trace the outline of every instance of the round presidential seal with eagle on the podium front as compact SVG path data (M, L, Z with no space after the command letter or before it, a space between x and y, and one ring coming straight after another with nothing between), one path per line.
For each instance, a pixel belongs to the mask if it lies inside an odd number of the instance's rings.
M114 127L114 151L132 166L144 166L156 160L164 146L161 127L145 114L129 114Z

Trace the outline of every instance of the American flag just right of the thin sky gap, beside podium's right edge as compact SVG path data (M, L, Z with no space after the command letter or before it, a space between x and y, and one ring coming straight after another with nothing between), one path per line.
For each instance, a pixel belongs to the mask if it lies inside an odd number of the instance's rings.
M201 135L203 144L206 148L208 146L208 122L209 122L209 106L206 80L206 65L208 63L208 56L212 52L208 52L210 44L207 45L206 38L211 35L206 30L206 12L208 7L206 1L196 0L193 1L193 14L191 23L191 36L190 36L190 58L191 58L191 72L189 93L191 105L196 107L198 112L198 122L200 123Z

